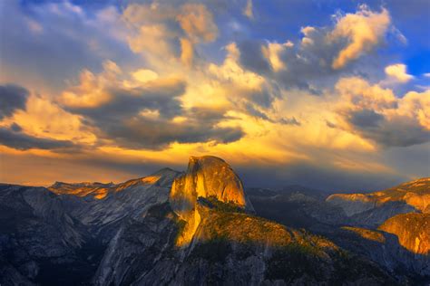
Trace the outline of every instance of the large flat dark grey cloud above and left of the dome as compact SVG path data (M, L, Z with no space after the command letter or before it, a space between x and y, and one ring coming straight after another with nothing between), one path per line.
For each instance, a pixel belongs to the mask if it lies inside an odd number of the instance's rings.
M125 148L166 148L173 142L229 143L244 133L239 128L220 128L225 110L192 108L184 110L180 96L185 91L183 81L169 81L132 90L111 90L109 102L95 108L66 108L83 115L85 124L95 128L97 136L113 140ZM142 114L158 112L156 116ZM180 122L174 117L185 118Z

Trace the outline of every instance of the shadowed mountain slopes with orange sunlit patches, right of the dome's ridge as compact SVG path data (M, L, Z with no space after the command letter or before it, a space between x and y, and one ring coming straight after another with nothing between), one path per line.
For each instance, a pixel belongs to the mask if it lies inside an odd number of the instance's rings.
M337 194L321 199L324 193L315 191L314 195L299 189L253 188L247 194L258 215L323 235L381 265L399 281L418 285L430 281L430 256L424 251L415 252L415 247L425 249L430 241L428 215L421 213L428 209L423 204L430 194L428 178L377 195ZM375 197L380 201L376 202ZM417 208L406 205L411 197L415 197Z

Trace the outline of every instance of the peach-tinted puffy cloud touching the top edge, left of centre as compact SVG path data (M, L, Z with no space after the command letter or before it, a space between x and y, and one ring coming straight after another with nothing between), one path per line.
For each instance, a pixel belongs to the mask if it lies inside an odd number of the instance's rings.
M132 51L148 59L180 59L191 65L194 46L218 36L213 15L202 4L132 4L124 9L122 19L133 30L128 37Z

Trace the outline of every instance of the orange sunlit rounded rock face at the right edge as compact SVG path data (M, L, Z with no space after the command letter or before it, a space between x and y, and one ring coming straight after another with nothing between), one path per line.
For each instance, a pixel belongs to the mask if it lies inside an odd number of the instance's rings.
M399 243L412 253L425 255L430 253L430 214L428 213L396 215L387 219L379 229L395 234Z

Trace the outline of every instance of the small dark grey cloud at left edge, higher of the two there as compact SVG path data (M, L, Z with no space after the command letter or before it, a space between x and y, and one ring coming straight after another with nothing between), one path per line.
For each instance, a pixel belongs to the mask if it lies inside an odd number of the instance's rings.
M29 92L23 87L0 85L0 119L11 116L15 110L24 110Z

